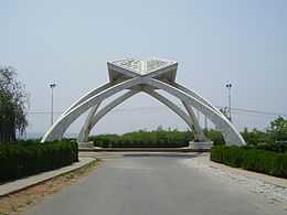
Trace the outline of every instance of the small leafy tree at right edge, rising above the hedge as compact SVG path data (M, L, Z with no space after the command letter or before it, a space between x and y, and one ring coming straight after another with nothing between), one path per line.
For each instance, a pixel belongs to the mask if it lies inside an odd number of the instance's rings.
M287 120L278 117L270 122L267 133L273 141L287 141Z

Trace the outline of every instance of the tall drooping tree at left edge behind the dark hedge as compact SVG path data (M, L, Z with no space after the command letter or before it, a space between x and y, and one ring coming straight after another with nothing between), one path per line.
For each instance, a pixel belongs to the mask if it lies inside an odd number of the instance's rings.
M12 67L0 67L0 142L15 141L28 126L28 97Z

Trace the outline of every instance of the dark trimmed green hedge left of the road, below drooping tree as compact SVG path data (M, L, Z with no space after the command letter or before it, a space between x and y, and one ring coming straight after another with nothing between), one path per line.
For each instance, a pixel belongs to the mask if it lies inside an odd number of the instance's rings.
M54 170L77 161L76 142L22 141L0 144L0 182Z

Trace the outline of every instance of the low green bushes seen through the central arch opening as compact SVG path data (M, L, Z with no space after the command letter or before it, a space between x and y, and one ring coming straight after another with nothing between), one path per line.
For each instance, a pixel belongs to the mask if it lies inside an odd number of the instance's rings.
M121 136L100 135L91 137L89 140L98 147L114 148L173 148L188 147L193 139L191 131L163 130L135 131Z

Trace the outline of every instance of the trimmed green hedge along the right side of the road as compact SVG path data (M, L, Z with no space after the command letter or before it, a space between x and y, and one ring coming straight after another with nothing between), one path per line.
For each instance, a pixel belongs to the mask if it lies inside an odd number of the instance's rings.
M287 178L287 153L248 147L214 147L211 160L274 176Z

